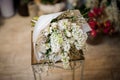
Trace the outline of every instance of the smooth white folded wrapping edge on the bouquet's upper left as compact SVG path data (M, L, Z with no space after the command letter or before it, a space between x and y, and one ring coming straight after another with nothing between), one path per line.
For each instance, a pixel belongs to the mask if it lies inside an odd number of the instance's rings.
M37 38L39 36L39 33L41 30L43 30L47 25L56 17L58 17L62 12L49 14L49 15L43 15L40 16L38 21L35 24L34 31L33 31L33 42L35 43L37 41Z

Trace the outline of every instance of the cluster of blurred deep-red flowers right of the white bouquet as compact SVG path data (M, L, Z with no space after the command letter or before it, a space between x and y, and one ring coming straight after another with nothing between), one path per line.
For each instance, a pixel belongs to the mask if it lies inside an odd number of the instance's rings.
M89 13L88 23L92 28L91 35L97 36L97 33L111 34L114 31L112 22L106 19L103 8L94 8Z

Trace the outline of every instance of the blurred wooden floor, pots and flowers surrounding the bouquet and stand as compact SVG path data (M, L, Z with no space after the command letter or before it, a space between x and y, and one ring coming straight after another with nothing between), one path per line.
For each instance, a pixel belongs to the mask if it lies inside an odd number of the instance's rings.
M91 27L84 80L120 80L120 0L0 0L0 80L34 80L31 20L80 10Z

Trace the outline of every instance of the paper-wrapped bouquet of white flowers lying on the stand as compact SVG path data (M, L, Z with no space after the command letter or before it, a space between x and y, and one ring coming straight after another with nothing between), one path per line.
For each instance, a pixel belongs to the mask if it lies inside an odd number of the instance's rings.
M62 61L69 67L74 56L82 55L86 48L88 24L78 10L43 15L35 23L33 32L34 53L38 61Z

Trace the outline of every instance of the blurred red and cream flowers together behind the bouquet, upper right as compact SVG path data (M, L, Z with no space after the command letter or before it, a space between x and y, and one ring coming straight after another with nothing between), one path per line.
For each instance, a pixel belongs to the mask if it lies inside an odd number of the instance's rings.
M118 30L118 9L115 1L87 0L86 7L90 8L88 23L92 28L91 36L96 37L99 33L111 35Z

